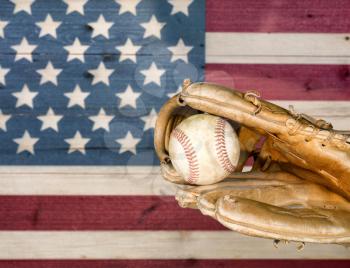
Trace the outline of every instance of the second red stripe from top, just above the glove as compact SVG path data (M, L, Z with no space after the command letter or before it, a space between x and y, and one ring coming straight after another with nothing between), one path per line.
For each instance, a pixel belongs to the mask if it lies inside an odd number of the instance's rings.
M264 99L350 100L346 65L208 64L206 80L242 91L256 89Z

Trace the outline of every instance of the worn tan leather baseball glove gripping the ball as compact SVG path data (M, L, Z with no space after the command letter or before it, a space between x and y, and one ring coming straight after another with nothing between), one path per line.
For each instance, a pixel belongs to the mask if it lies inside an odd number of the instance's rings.
M203 112L238 127L241 154L225 180L193 186L173 168L168 144L182 120ZM186 80L162 107L154 139L163 177L181 185L180 206L246 235L350 243L350 132L264 101L254 91ZM250 157L253 167L243 172Z

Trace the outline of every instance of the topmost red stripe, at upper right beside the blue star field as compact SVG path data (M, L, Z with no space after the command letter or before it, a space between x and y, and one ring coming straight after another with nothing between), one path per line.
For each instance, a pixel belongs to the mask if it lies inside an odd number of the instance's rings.
M208 32L342 33L350 28L348 0L207 0Z

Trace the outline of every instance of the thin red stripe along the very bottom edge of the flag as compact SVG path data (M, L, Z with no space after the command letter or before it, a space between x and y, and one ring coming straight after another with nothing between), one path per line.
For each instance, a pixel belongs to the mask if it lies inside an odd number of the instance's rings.
M242 267L242 268L345 268L348 260L47 260L47 261L0 261L6 268L212 268L212 267Z

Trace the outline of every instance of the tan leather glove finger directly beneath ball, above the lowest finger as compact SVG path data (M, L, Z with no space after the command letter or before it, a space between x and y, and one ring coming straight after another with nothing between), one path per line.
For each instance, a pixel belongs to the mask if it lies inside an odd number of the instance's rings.
M183 191L186 192L187 196L192 196L192 207L195 206L197 200L198 209L204 215L211 217L215 217L218 199L225 195L242 197L284 208L326 208L350 211L350 203L346 199L329 192L322 186L309 183L231 181L222 182L215 186L195 187Z

